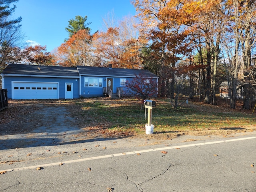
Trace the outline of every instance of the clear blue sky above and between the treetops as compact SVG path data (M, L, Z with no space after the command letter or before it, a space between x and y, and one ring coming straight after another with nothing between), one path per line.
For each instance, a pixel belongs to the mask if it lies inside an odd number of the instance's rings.
M135 15L136 10L130 0L19 0L14 18L22 17L22 32L30 45L40 44L52 51L60 46L68 32L68 21L76 15L87 16L92 33L102 28L102 18L114 12L117 20Z

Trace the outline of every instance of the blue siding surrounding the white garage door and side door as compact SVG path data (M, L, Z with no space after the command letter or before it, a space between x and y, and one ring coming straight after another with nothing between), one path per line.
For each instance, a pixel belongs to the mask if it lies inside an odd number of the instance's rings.
M77 80L77 81L76 81ZM18 77L4 76L4 87L7 88L8 98L12 98L12 81L21 82L58 82L59 99L65 98L65 83L73 83L73 98L79 98L79 78L50 78L50 77Z

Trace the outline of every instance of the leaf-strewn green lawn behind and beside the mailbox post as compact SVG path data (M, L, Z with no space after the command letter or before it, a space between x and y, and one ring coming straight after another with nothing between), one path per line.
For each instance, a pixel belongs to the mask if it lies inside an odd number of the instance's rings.
M155 133L256 126L255 114L231 109L222 112L214 109L214 106L193 102L173 109L168 100L155 100L156 108L152 109ZM113 131L132 130L136 133L144 133L145 111L144 108L141 110L141 103L138 100L94 98L77 100L76 105L82 109L79 112L80 118L84 118L84 122L91 126L102 125Z

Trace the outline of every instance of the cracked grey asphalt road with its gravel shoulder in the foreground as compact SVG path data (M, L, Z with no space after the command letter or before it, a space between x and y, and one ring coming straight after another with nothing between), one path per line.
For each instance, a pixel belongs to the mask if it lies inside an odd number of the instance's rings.
M0 172L7 171L0 175L0 191L255 192L255 146L256 132L251 132L229 138L98 140L0 150L5 160L26 154L18 162L0 164ZM41 152L33 157L35 150Z

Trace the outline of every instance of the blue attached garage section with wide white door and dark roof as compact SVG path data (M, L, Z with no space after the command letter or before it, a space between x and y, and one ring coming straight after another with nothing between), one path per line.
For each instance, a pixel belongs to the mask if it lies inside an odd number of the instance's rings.
M79 98L75 67L9 64L0 74L9 99Z

